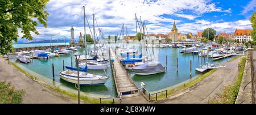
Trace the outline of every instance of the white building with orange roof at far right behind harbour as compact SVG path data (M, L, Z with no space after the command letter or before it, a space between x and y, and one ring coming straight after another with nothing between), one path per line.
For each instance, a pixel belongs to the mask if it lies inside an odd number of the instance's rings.
M253 41L251 39L251 29L236 29L234 32L234 40L242 41Z

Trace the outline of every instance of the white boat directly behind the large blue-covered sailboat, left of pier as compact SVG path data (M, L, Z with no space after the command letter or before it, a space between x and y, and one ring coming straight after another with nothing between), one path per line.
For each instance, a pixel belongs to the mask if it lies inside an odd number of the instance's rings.
M85 66L86 66L85 62L79 63L80 68L84 68ZM88 62L87 66L88 66L88 70L104 70L104 69L107 69L108 67L108 65L106 64L101 64L97 62Z

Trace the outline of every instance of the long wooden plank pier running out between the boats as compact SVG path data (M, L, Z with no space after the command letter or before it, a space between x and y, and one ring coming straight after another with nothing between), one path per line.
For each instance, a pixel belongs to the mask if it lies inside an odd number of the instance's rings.
M139 88L127 74L125 67L123 67L122 63L115 56L113 49L110 48L111 57L114 58L113 62L113 74L115 85L117 87L117 92L120 96L131 95L135 92L138 92Z

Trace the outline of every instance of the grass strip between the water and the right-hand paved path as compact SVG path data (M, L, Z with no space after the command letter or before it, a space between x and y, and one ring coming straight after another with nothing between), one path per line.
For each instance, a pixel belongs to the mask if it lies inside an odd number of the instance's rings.
M168 95L172 95L172 94L177 93L179 91L185 90L186 88L195 85L196 83L200 82L200 80L202 80L202 79L206 78L207 76L211 75L216 70L217 69L210 70L210 71L208 71L208 73L200 75L200 77L196 78L195 80L192 80L190 82L184 83L182 86L176 87L174 89L167 90L167 94ZM151 99L155 99L155 95L152 95ZM163 99L166 99L166 92L158 93L158 100L163 100Z

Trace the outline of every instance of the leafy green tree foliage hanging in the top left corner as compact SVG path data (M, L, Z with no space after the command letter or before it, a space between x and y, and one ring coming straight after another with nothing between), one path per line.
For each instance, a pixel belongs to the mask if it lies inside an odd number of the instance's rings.
M46 10L49 0L1 0L0 1L0 54L13 52L13 41L18 41L18 29L23 33L22 39L32 40L31 32L36 31L38 22L47 27Z

